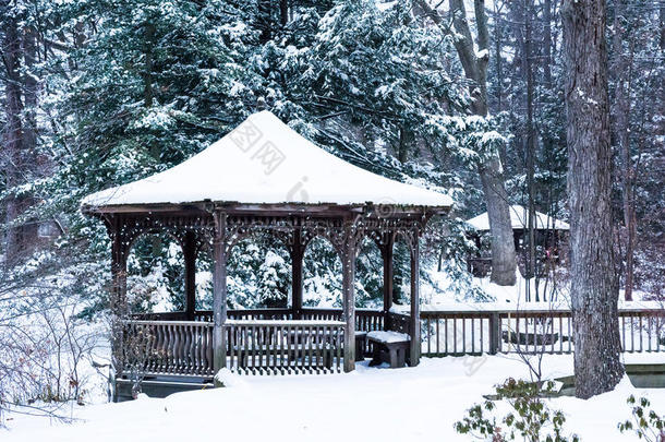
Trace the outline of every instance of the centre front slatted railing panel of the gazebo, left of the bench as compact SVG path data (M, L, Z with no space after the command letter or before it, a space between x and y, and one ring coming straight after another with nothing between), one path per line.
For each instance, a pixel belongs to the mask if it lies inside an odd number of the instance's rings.
M339 321L235 321L226 324L227 368L239 373L340 372Z

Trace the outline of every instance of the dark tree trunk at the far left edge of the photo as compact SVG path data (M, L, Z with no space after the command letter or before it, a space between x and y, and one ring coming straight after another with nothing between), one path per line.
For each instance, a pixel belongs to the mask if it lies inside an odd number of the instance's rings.
M19 21L11 11L11 7L5 3L2 8L5 14L4 38L2 41L2 60L4 64L4 99L5 99L5 123L4 136L2 140L2 164L4 166L5 186L12 189L21 183L21 169L23 167L23 127L21 115L23 104L21 100L21 37L19 32ZM5 261L11 264L20 251L19 228L13 223L21 214L21 200L14 195L9 195L5 201L7 229L4 237Z

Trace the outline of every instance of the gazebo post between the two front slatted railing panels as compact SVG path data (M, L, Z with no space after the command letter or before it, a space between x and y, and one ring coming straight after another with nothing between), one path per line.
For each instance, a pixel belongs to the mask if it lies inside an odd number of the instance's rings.
M227 215L215 213L215 272L213 274L213 368L215 374L227 365L227 343L223 325L227 322Z

